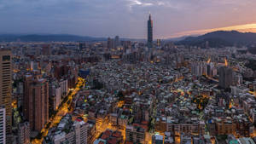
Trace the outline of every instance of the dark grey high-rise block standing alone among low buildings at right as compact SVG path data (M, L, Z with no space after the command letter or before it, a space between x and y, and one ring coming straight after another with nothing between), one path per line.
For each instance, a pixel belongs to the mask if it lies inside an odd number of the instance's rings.
M222 66L218 70L218 75L218 85L224 89L230 88L232 84L232 69L228 66Z

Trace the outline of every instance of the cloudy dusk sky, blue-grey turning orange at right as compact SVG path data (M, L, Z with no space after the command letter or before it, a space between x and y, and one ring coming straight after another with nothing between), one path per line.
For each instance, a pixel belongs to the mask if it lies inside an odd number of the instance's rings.
M0 0L0 33L154 38L256 32L255 0Z

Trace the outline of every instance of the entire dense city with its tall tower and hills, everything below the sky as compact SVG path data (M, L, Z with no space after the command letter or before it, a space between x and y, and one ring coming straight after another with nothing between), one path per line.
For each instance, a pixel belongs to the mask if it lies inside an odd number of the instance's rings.
M253 27L142 21L142 38L0 33L0 144L255 144Z

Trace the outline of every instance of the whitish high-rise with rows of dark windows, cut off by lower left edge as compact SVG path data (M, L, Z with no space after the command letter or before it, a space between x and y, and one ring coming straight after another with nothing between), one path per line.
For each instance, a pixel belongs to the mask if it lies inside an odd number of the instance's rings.
M5 121L5 108L0 107L0 143L6 143L6 121Z

